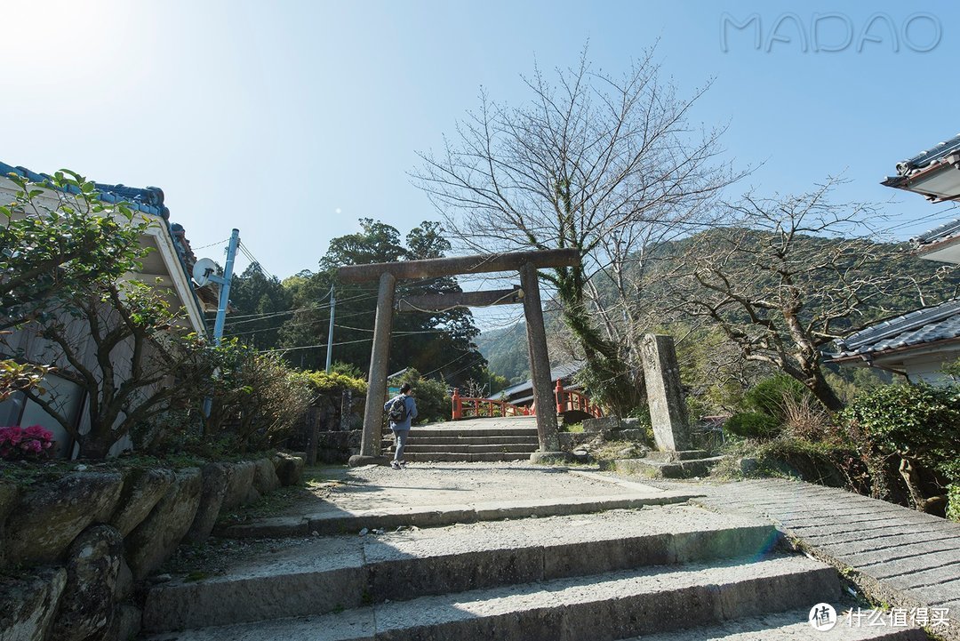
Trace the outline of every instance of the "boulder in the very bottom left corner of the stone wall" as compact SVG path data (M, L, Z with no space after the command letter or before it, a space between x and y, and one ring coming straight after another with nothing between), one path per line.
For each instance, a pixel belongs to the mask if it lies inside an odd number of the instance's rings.
M45 641L65 586L63 568L0 582L0 641Z

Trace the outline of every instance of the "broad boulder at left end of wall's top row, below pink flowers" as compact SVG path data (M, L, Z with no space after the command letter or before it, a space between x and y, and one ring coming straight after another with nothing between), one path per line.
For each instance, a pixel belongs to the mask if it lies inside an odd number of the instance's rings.
M22 493L4 533L7 562L32 565L63 558L78 534L113 511L122 487L117 472L75 472Z

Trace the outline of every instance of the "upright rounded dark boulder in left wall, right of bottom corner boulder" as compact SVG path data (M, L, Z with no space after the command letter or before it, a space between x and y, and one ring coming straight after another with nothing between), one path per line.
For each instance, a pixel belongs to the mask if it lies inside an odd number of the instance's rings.
M108 525L90 527L74 539L49 641L84 641L108 629L122 558L123 536Z

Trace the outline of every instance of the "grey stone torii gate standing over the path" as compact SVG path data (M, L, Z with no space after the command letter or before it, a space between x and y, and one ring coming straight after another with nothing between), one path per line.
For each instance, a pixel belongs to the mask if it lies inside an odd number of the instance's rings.
M383 421L383 403L387 394L387 369L396 281L408 278L455 276L463 273L513 271L520 274L523 314L527 322L527 347L534 384L534 402L538 408L541 408L537 413L540 456L549 456L548 453L556 453L558 457L563 456L560 453L560 438L557 434L557 415L547 411L554 405L553 382L550 380L550 361L546 350L546 332L543 329L543 310L540 306L540 282L537 279L537 270L544 267L573 267L579 264L580 253L577 249L543 249L341 267L337 272L341 282L363 283L378 280L380 283L376 301L376 321L373 324L370 375L367 378L363 437L360 441L360 454L350 457L349 464L356 466L382 463L380 427ZM510 294L512 292L471 292L430 298L442 299L444 307L452 307L493 304L504 301L505 298L510 297ZM425 299L418 302L420 307L425 304L439 304L438 301Z

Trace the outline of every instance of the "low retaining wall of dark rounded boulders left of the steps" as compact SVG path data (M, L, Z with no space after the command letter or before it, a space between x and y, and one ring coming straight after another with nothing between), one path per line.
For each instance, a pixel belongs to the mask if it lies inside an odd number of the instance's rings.
M300 483L286 454L185 469L74 471L37 487L0 484L0 641L127 641L134 585L220 510Z

